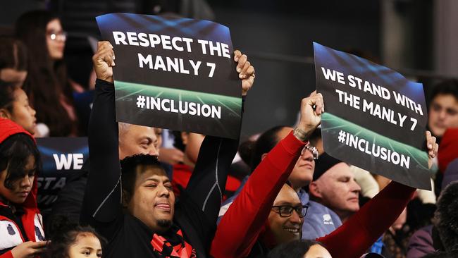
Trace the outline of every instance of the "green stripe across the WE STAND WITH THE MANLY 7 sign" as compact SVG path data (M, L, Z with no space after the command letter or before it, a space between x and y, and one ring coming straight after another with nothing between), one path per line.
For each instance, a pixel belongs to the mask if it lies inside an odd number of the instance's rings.
M424 166L424 164L428 164L428 154L423 152L421 149L406 145L402 142L397 142L396 140L392 140L388 137L363 128L360 125L346 121L345 119L331 113L323 113L321 115L321 121L324 121L329 125L329 127L324 130L345 130L347 133L354 136L362 137L365 140L372 140L373 144L379 145L380 147L385 147L386 149L390 149L392 152L410 156L419 167L428 170L428 167Z

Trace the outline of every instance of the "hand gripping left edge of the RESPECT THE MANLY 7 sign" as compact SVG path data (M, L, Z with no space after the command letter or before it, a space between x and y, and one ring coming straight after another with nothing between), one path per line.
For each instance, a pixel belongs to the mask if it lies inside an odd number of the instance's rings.
M94 63L95 74L97 79L106 80L113 83L113 66L115 55L113 46L110 42L102 41L97 43L97 51L92 56L92 63Z

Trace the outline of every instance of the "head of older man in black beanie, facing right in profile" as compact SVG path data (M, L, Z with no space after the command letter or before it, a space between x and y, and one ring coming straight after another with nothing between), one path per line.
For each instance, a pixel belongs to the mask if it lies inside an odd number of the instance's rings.
M309 185L310 199L314 201L311 206L328 207L345 222L359 210L359 191L361 188L348 164L326 153L319 156ZM338 221L335 216L333 219Z

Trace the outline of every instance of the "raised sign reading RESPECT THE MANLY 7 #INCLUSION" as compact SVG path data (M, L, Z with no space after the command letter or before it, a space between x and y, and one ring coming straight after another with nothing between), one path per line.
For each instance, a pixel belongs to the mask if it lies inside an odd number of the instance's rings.
M120 122L237 138L242 107L228 27L131 13L97 17L113 45Z

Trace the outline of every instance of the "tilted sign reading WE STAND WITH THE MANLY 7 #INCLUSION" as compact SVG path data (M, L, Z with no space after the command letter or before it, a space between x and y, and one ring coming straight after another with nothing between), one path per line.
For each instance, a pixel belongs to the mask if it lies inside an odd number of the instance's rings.
M358 56L314 43L323 94L325 152L414 188L431 190L428 121L421 83Z

